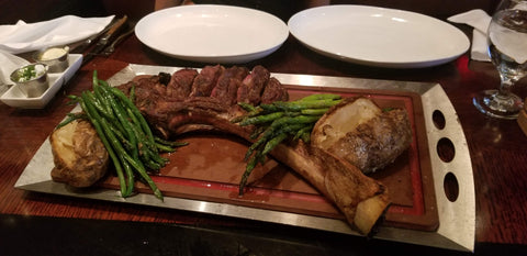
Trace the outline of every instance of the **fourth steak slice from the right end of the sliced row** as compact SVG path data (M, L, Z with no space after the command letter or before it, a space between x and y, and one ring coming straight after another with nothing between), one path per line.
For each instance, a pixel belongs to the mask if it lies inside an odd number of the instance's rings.
M203 67L194 78L190 97L211 96L212 89L216 86L217 79L223 74L223 70L225 70L225 68L221 65Z

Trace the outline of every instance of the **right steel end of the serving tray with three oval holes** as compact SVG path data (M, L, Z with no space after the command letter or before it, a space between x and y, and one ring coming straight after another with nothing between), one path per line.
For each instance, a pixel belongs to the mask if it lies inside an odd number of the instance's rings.
M440 224L437 232L473 252L475 240L475 190L472 163L461 123L442 88L431 88L422 94L422 99L439 211ZM434 124L431 120L434 111L440 111L445 116L446 126L444 129L438 129ZM453 159L449 163L444 162L437 152L431 152L437 148L437 144L441 138L448 138L453 144L456 151ZM444 190L444 182L448 174L453 175L459 187L458 197L453 202L447 198Z

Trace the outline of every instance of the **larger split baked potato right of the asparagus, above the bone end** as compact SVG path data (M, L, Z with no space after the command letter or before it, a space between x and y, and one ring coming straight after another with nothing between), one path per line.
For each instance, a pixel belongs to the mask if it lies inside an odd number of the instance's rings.
M383 111L370 99L349 98L318 120L311 141L369 174L408 148L412 127L404 109Z

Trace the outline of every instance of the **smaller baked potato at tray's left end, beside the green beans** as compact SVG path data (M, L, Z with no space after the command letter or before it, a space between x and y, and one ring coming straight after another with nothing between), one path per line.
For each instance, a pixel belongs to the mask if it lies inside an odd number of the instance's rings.
M52 179L72 187L90 187L108 170L109 155L90 122L76 120L49 136L55 168Z

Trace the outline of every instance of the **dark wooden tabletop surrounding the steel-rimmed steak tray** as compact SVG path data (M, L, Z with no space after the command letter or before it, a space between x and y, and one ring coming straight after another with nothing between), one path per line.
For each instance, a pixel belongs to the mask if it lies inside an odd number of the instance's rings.
M462 26L460 29L470 35L470 30ZM14 188L16 179L41 144L55 125L72 109L72 107L66 104L68 101L66 96L79 94L82 90L89 89L93 70L97 69L99 76L106 79L130 63L194 68L204 65L160 55L143 45L135 35L132 35L120 44L116 52L110 57L98 56L81 67L45 109L22 110L0 103L0 120L2 123L0 125L0 213L2 214L0 230L10 229L10 218L19 220L19 224L24 224L27 218L29 220L40 220L34 224L36 227L33 232L41 232L40 229L44 229L45 223L55 223L57 220L65 221L57 222L58 224L69 223L72 226L76 225L76 220L119 221L117 223L121 224L128 223L123 224L123 226L131 232L134 232L134 229L137 231L148 230L157 225L161 225L159 229L167 229L164 224L220 227L255 225L264 231L269 230L270 227L262 223L250 221L36 193ZM516 121L487 118L478 112L472 104L472 97L475 92L496 88L498 85L497 73L490 63L472 62L469 55L462 55L451 63L431 68L384 69L366 67L321 56L290 37L278 52L246 65L254 66L256 64L267 67L272 73L440 84L459 115L470 149L475 183L475 254L492 255L491 252L513 252L513 254L517 253L519 255L527 253L527 135L522 132ZM517 92L524 98L527 97L526 85L527 81L524 79L517 89ZM20 216L22 219L16 219ZM41 216L44 219L41 219ZM108 229L119 225L111 223L108 224ZM87 224L77 223L77 225L81 229L82 226L86 227ZM88 226L103 225L96 222L96 224ZM68 229L71 229L71 231L67 230L65 232L81 233L74 227ZM294 229L276 226L272 226L272 229L289 231L293 240L305 238L302 232ZM101 232L103 231L104 229L101 227ZM0 233L3 232L0 231ZM152 233L158 235L155 231L150 231L148 234ZM53 235L53 233L49 234ZM334 242L327 240L334 240ZM341 246L343 248L348 246L347 242L344 242L339 236L335 237L335 235L321 238L321 241L325 241L321 242L322 245ZM341 244L337 244L340 242ZM2 243L7 242L0 242L0 245ZM362 241L354 243L360 245ZM392 247L399 249L396 252L403 253L426 252L434 255L459 255L458 252L435 251L422 246L400 245L389 242L373 242L373 244L367 246L371 251L357 249L356 254L381 252L375 246L379 244L385 246L385 248Z

